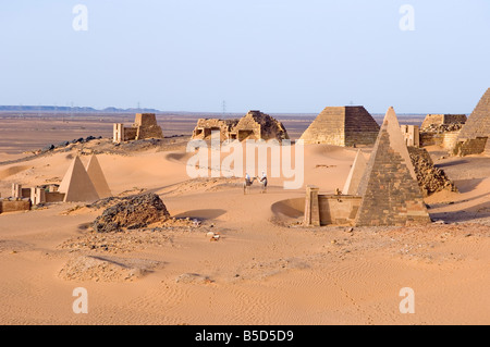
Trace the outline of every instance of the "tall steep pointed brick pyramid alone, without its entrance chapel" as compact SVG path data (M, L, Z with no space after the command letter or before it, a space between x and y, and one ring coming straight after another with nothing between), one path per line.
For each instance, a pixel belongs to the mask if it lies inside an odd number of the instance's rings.
M357 194L363 197L358 226L430 222L393 108L384 116Z

